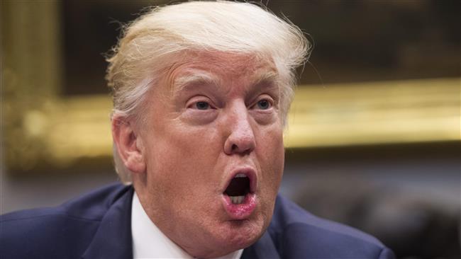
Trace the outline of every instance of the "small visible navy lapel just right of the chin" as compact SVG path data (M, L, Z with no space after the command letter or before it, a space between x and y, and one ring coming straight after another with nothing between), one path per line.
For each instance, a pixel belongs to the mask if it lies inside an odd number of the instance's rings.
M260 240L245 248L240 259L279 259L280 255L274 246L269 233L265 231Z

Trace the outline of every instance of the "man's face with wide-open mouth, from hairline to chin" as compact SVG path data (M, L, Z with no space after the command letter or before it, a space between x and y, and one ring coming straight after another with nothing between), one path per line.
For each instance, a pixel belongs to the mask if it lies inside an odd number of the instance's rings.
M148 93L135 188L189 254L245 248L269 225L284 166L279 100L270 59L223 52L183 56Z

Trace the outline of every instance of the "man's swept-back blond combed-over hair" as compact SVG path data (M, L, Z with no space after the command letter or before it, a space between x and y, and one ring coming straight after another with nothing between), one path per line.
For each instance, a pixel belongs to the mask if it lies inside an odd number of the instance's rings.
M186 51L218 51L270 57L279 75L280 108L286 122L296 84L295 70L304 64L311 45L301 30L250 3L190 1L152 8L123 28L107 58L106 80L113 93L112 116L142 116L143 97L155 87L162 69ZM113 149L123 183L130 172Z

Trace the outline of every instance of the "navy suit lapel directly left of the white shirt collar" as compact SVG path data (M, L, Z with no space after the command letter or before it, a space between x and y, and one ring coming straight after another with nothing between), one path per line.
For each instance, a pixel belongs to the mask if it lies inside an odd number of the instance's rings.
M82 258L133 258L131 202L133 188L109 207Z

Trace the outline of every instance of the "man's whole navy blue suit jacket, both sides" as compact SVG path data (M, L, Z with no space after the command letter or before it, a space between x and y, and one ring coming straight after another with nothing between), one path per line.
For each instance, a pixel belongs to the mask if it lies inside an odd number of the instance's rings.
M59 207L1 216L0 258L133 258L133 188L106 186ZM265 234L242 258L393 258L377 239L277 197Z

